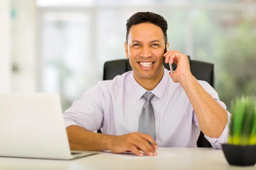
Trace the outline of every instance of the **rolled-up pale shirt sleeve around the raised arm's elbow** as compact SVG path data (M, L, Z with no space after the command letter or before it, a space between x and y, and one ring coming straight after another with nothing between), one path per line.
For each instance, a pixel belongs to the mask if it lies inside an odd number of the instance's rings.
M204 88L204 90L207 91L207 93L209 93L212 96L212 98L215 99L215 101L218 102L218 104L221 105L221 107L227 111L226 105L224 104L224 102L220 101L220 99L218 97L218 93L212 88L212 86L210 86L205 81L198 81L198 82ZM221 144L227 143L228 134L229 134L229 123L230 123L231 116L232 115L227 111L227 117L228 117L227 125L225 126L225 128L219 138L211 138L207 135L204 135L204 137L210 142L212 147L221 149ZM196 126L199 127L198 118L195 114L195 111L193 111L193 122L195 123Z

